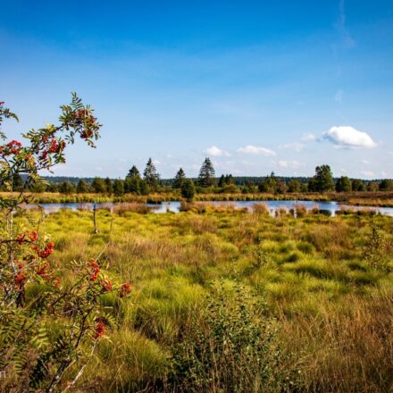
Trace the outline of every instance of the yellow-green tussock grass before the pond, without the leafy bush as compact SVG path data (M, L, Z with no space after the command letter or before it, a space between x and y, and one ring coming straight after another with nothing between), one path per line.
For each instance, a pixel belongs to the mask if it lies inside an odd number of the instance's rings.
M64 281L72 280L71 260L100 255L107 274L133 286L129 299L103 300L117 326L79 380L82 391L170 391L166 379L179 332L219 280L240 282L266 300L283 351L301 371L301 391L393 386L393 219L207 209L98 211L96 220L97 234L86 211L51 213L41 223L52 234L52 262ZM364 260L371 222L386 240L388 271Z

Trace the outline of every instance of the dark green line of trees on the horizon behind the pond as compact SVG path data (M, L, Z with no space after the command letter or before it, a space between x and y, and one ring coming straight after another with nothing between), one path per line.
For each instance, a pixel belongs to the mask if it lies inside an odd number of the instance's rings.
M23 183L21 176L15 176L13 189L17 191L23 187ZM165 192L173 189L180 190L183 197L192 198L195 193L206 192L285 194L330 191L391 191L393 190L393 180L351 180L347 176L334 179L329 165L317 166L315 174L311 178L284 178L276 176L274 172L264 178L235 178L232 174L222 174L220 178L216 178L213 163L208 157L202 163L196 179L188 178L185 171L180 168L173 179L162 180L154 161L149 158L142 173L136 165L132 165L124 179L111 180L96 177L91 181L79 179L77 184L67 180L60 183L43 181L31 184L29 189L33 192L46 191L63 194L94 192L115 196L128 193L147 195L152 192Z

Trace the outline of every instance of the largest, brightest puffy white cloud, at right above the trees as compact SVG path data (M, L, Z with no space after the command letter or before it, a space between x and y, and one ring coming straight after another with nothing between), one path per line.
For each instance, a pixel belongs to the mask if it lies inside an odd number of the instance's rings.
M322 138L339 147L367 147L377 144L366 132L358 131L350 126L335 126L322 133Z

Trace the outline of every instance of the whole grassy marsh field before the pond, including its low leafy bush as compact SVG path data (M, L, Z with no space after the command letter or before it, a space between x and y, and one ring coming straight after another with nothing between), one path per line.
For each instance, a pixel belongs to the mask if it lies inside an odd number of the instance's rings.
M46 216L63 285L100 255L133 286L72 391L392 391L393 220L264 213Z

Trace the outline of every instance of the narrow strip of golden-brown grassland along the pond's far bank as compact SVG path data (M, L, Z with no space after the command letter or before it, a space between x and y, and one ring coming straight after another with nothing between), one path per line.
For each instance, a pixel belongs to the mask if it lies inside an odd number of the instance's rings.
M17 193L0 192L0 198L16 197ZM60 193L26 193L29 200L36 203L67 203L67 202L139 202L139 203L161 203L167 201L178 201L181 199L180 192L161 192L138 196L135 194L124 194L120 197L107 194L60 194ZM253 201L253 200L304 200L304 201L337 201L346 205L367 205L393 207L392 191L376 192L348 192L348 193L204 193L197 194L196 201Z

